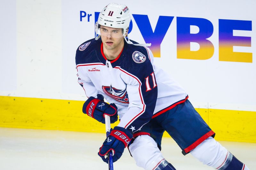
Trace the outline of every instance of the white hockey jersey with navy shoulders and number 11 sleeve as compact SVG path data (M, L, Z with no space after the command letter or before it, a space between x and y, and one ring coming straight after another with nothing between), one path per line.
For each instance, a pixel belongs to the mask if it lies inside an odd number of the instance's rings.
M153 65L153 59L148 47L124 41L119 56L108 61L101 39L90 39L76 51L78 83L87 97L101 94L115 103L121 119L118 126L134 133L188 98L177 82Z

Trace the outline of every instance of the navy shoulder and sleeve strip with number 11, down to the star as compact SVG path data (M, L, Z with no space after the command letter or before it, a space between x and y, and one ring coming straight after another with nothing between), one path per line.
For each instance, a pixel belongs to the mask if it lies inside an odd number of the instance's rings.
M133 44L137 44L132 41ZM154 113L157 99L157 84L155 80L154 69L151 64L148 50L143 46L135 46L125 42L124 55L120 63L120 67L128 73L140 79L140 97L143 98L142 104L146 105L143 113L126 128L133 133L132 127L136 127L136 131L144 124L148 123ZM129 91L127 91L129 94ZM141 112L140 112L141 113ZM138 128L139 127L139 128ZM135 131L135 132L136 132Z

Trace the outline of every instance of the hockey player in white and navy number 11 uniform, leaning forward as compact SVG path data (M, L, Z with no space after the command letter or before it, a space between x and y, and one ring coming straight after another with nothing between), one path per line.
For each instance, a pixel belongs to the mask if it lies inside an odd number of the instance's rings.
M104 156L113 150L115 162L128 146L137 166L174 170L160 152L162 135L167 131L184 155L191 153L215 169L248 170L215 141L215 133L179 84L153 64L148 44L128 38L130 21L126 5L108 4L95 25L99 35L76 51L78 82L89 98L83 112L102 123L105 114L111 123L117 121L117 115L120 118L98 155L107 162Z

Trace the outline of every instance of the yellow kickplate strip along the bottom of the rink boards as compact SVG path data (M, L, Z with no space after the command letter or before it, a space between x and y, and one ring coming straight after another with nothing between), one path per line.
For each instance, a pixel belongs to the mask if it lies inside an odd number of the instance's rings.
M105 125L84 115L83 101L0 96L0 127L105 133ZM226 141L256 143L256 112L196 109ZM112 124L116 126L118 122ZM169 137L164 133L165 137Z

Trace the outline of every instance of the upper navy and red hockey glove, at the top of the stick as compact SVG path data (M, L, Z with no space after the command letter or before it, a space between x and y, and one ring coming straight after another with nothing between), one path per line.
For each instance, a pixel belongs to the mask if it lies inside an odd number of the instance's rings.
M115 104L104 102L104 97L100 94L95 97L89 97L83 105L83 112L88 116L105 124L105 114L110 116L110 123L117 121L117 107Z

